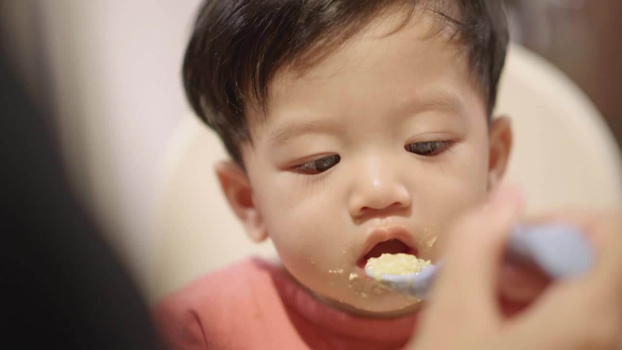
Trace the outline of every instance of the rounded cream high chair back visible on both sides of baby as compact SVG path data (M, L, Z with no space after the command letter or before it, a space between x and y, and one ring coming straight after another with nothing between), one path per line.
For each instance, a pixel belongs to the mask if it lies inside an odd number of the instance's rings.
M620 151L592 103L559 70L512 44L496 115L513 118L506 179L526 191L527 210L622 204ZM194 116L169 141L157 214L152 301L213 268L274 255L254 245L226 204L213 166L226 158L215 133Z

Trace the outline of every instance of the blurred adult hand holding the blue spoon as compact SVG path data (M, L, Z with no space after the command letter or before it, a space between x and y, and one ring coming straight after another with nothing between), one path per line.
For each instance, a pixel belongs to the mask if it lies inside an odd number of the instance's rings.
M622 212L549 215L591 237L587 274L550 283L514 317L499 308L499 267L521 201L501 189L485 210L458 220L417 336L407 349L619 349L622 339Z

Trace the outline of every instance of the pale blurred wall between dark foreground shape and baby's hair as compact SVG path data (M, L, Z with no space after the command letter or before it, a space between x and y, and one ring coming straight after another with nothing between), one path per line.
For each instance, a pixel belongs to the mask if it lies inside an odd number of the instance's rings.
M199 1L27 2L72 177L144 282L164 141L187 113L179 72Z

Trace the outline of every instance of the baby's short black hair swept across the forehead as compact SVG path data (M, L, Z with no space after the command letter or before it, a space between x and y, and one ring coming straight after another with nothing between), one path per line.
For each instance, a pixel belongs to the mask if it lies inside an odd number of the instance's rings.
M190 105L241 164L244 110L265 108L280 69L312 65L384 11L397 7L405 25L419 3L460 40L490 116L508 45L499 0L205 0L183 61Z

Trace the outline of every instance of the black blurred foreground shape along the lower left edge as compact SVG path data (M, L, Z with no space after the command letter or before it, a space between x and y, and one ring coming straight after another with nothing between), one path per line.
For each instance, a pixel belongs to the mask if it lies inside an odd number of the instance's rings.
M0 349L161 349L146 303L72 196L46 120L3 57Z

